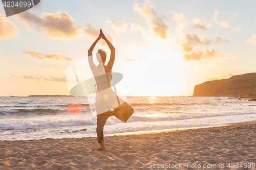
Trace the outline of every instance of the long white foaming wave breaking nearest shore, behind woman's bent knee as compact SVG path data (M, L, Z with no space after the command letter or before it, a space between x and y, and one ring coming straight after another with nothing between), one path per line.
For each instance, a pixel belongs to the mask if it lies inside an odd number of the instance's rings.
M190 113L190 114L161 114L156 116L147 116L147 114L133 114L127 123L135 122L154 122L160 123L165 121L205 118L205 117L217 117L228 115L242 115L242 114L256 114L256 111L244 111L244 112L223 112L223 113ZM8 120L0 122L0 130L26 130L26 129L48 129L67 126L92 126L96 125L96 116L88 116L86 118L70 118L67 119L49 119L49 120ZM106 121L106 125L115 125L122 123L121 120L114 116L111 116Z

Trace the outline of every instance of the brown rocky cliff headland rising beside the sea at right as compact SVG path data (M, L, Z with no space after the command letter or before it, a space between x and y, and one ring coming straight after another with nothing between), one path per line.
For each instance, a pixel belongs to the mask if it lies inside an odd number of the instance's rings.
M212 80L194 87L193 96L256 96L256 72Z

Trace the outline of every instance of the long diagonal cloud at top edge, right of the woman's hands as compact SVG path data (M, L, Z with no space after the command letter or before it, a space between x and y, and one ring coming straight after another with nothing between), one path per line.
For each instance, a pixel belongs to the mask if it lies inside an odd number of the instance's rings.
M147 25L151 27L156 36L167 39L168 27L164 24L163 18L154 11L154 6L150 4L150 1L145 0L143 8L138 3L134 3L133 9L146 19Z

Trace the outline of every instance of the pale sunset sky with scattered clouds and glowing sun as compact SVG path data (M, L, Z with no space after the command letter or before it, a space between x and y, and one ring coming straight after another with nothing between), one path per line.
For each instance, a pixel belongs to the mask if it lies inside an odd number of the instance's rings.
M206 81L255 71L255 1L50 1L6 17L0 4L0 96L66 94L66 69L102 29L126 95L193 95ZM100 40L94 48L107 53Z

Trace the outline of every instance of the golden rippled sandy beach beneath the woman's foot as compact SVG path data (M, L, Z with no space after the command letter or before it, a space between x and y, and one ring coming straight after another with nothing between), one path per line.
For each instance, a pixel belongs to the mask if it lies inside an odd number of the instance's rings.
M0 169L256 169L255 129L253 121L109 136L107 151L96 137L0 141Z

